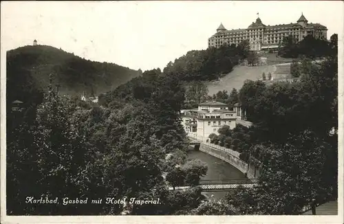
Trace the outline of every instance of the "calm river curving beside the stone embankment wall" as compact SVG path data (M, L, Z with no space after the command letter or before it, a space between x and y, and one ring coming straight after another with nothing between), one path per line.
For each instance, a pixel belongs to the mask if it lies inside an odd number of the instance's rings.
M201 179L246 179L244 174L234 166L206 153L189 150L188 159L200 159L208 165L208 172ZM202 192L202 194L210 199L221 199L227 192Z

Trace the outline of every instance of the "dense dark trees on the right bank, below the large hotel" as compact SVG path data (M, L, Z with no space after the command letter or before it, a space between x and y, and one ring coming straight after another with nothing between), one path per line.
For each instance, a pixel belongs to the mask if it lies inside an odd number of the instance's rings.
M293 63L299 82L244 83L238 102L254 125L225 126L209 137L234 150L239 146L240 158L260 170L259 187L236 189L222 207L234 206L237 214L299 214L304 206L336 199L338 59L336 45L330 48L322 63ZM207 210L200 214L230 214L220 205L201 205Z

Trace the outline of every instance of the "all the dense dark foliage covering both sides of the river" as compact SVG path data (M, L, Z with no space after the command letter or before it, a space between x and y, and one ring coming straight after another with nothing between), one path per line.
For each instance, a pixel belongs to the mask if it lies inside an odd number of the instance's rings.
M8 214L298 214L305 205L336 198L336 35L325 53L323 48L310 51L310 43L310 38L289 43L290 49L307 53L308 58L292 64L299 82L247 80L239 91L214 96L207 96L206 86L197 81L217 78L247 58L245 42L188 52L164 73L145 71L101 95L99 104L58 96L52 81L43 94L25 66L8 66ZM310 60L324 55L321 63ZM17 63L27 65L22 59ZM85 65L84 71L94 70ZM185 89L182 81L191 80ZM185 105L195 107L206 99L230 108L241 104L254 124L233 130L224 126L209 136L260 171L257 188L237 188L220 201L202 201L199 188L168 189L197 186L206 175L206 164L186 159L179 115ZM12 109L12 100L23 101L21 110ZM161 203L62 206L28 204L26 197L159 198Z

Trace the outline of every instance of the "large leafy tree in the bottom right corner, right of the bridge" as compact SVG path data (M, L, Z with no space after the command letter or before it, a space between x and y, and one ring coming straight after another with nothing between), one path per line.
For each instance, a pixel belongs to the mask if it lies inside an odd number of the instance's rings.
M296 214L304 205L330 197L334 182L327 177L336 179L336 175L327 169L326 160L332 150L312 131L294 135L281 146L263 147L259 152L263 163L261 188L252 194L259 199L259 210L264 214Z

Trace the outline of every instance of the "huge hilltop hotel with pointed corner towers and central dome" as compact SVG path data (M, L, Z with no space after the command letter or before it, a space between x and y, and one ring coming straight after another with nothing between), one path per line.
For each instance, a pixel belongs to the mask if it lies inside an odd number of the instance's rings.
M301 14L297 23L264 25L259 17L247 29L226 30L224 25L219 25L216 34L208 38L208 47L219 47L227 43L237 45L248 40L252 51L276 49L283 37L292 35L297 41L302 41L305 36L314 38L327 38L327 27L319 23L308 23Z

